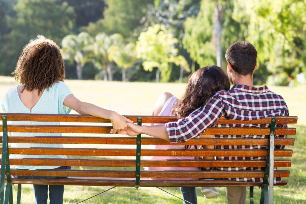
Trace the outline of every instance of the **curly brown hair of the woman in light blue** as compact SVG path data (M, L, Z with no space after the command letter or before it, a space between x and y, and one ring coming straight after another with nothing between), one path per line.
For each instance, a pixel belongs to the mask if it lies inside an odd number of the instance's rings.
M59 46L38 35L24 46L12 74L15 74L16 81L24 84L22 91L38 89L39 94L52 84L64 81L65 65Z

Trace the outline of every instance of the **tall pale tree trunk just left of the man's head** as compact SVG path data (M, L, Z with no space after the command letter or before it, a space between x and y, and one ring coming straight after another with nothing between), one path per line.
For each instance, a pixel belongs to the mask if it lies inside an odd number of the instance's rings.
M215 6L215 23L214 31L216 36L216 57L217 66L222 67L222 46L221 46L221 33L222 33L222 13L223 9L221 5L218 5L218 0L216 0Z

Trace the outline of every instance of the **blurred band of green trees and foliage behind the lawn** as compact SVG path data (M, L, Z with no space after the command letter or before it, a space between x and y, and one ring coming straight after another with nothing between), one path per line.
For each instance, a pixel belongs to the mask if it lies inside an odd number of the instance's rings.
M0 0L0 75L42 34L61 48L69 79L182 82L226 69L226 49L250 41L254 83L305 83L304 0Z

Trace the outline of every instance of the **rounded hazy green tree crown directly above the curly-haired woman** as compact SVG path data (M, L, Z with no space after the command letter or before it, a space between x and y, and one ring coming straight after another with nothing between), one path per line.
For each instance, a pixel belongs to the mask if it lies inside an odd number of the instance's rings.
M16 36L42 34L59 43L71 32L75 21L73 8L58 0L19 0L14 10L17 18L8 17L8 22L11 34Z

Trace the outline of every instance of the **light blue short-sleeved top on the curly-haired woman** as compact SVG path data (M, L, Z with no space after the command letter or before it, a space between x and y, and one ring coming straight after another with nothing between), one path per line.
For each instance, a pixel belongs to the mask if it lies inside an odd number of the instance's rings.
M28 109L21 102L17 87L10 88L4 96L1 107L6 113L44 113L44 114L69 114L71 109L64 106L66 96L73 94L68 86L59 81L54 83L49 90L45 89L38 102L32 109ZM9 124L32 124L32 125L59 125L59 122L30 122L8 121ZM22 133L12 132L13 136L62 136L60 133ZM11 143L11 147L63 147L62 144L28 144ZM24 155L11 154L11 158L67 158L66 155ZM13 169L55 169L59 166L11 166Z

